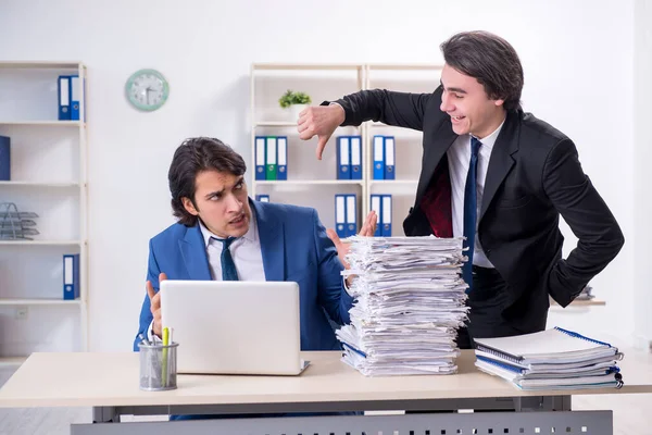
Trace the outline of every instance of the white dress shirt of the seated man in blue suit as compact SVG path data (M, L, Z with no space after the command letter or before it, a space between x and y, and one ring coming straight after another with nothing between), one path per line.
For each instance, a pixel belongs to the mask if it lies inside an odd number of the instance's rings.
M222 248L224 244L213 240L212 237L221 238L214 235L205 227L203 222L199 221L199 228L204 239L211 276L213 281L222 281ZM261 250L261 240L259 237L258 223L253 209L251 210L251 223L249 231L237 240L234 240L229 247L231 258L238 271L240 281L265 281L265 270L263 268L263 252ZM165 272L165 271L161 271ZM154 321L150 323L147 336L150 340L160 341L153 333Z

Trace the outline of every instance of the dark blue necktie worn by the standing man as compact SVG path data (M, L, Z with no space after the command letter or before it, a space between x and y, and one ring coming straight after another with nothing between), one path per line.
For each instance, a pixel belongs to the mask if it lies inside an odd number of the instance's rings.
M466 257L468 261L462 266L462 276L471 293L473 286L473 250L475 249L476 220L478 214L478 195L477 173L478 173L478 150L482 145L475 137L471 137L471 163L468 164L468 174L466 175L466 186L464 187L464 248L468 248Z

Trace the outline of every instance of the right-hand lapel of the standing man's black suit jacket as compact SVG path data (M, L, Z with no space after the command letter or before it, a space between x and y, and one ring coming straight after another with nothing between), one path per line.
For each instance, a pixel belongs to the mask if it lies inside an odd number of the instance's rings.
M515 163L513 154L518 151L519 117L521 111L507 112L505 123L498 135L496 144L493 144L491 158L489 159L489 169L487 170L487 178L485 179L485 191L482 194L482 204L478 222L482 220L498 188Z

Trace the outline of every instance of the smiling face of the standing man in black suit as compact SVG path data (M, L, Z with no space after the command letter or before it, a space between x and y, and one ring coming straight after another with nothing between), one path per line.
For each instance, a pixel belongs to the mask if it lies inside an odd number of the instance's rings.
M472 134L479 139L489 136L504 119L504 100L491 100L485 87L475 78L443 65L441 71L442 112L451 116L453 132Z

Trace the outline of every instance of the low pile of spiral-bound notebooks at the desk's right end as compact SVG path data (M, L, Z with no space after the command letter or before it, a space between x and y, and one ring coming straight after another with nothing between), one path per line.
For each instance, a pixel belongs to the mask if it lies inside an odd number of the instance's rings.
M623 386L616 347L561 327L475 344L478 369L524 390Z

